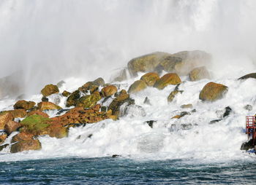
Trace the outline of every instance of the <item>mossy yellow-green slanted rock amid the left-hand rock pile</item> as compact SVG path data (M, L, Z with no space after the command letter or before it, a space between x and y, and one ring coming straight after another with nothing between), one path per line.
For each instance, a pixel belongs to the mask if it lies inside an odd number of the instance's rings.
M78 102L76 103L76 107L83 107L83 108L91 108L97 104L97 101L101 99L99 92L94 92L91 95L84 95L79 98Z

